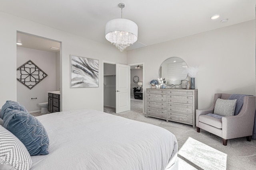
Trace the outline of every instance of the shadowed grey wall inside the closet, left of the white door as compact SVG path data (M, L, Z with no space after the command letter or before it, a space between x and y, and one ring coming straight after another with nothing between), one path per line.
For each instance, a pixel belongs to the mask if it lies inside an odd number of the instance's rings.
M116 64L104 63L104 75L116 75ZM116 76L104 76L104 106L116 107Z

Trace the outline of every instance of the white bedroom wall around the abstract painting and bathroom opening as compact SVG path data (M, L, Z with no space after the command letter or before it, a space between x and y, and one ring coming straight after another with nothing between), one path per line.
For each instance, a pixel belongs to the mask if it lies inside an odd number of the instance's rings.
M126 52L113 45L104 45L33 21L0 12L0 106L6 100L17 100L16 32L21 31L61 42L60 89L62 111L90 108L103 111L102 61L126 64ZM104 36L105 27L102 27ZM107 40L106 40L107 41ZM70 88L70 54L99 60L98 88ZM11 63L11 64L10 64ZM6 74L8 72L8 74Z

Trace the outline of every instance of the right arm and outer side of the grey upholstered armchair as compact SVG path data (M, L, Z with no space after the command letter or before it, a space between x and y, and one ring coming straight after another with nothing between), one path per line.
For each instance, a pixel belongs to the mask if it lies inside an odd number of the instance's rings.
M244 104L236 116L222 117L222 138L251 136L254 126L255 96L244 97Z

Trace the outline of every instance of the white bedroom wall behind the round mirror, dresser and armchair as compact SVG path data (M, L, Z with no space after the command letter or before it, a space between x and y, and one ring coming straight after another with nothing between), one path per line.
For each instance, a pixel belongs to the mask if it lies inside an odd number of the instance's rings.
M255 95L255 20L127 52L128 64L144 62L144 84L158 78L169 57L200 67L199 109L209 108L215 93Z

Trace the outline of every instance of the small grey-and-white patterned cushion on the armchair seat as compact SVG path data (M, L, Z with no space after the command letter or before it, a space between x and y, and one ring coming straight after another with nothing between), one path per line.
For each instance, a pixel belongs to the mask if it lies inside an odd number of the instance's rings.
M214 107L214 114L222 116L233 116L236 109L236 99L224 100L218 98Z

